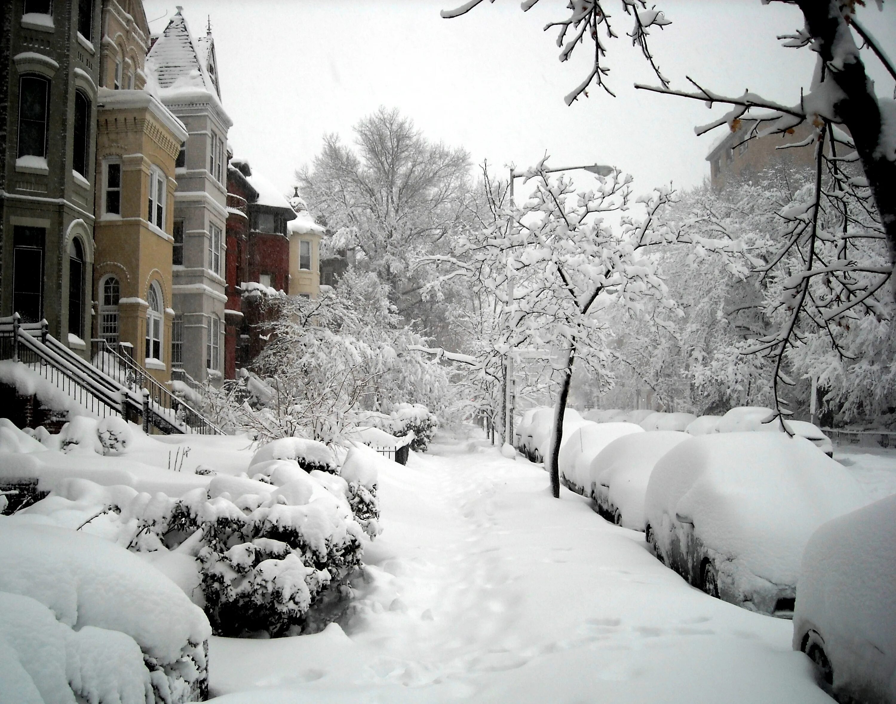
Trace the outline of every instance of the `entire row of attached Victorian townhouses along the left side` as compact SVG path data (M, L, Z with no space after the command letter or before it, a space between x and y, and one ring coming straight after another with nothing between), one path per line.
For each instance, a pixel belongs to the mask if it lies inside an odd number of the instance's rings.
M318 295L324 230L229 164L211 27L195 39L177 7L152 37L141 0L11 0L0 30L0 316L159 382L233 378L274 314L257 292Z

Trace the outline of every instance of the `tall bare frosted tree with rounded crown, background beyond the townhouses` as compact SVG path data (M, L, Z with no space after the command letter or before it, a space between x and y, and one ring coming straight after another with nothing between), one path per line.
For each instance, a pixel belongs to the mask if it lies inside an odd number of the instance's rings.
M332 246L358 252L358 265L392 288L400 313L419 302L411 268L422 253L450 248L470 191L470 157L430 142L397 109L380 107L355 125L354 147L323 138L311 167L296 172L312 210L334 232Z

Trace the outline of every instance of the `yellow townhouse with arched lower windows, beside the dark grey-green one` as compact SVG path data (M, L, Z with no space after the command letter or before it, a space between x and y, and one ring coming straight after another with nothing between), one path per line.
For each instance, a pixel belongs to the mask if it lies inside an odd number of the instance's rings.
M159 382L171 374L175 161L184 124L146 82L150 32L139 0L104 0L94 236L98 339L131 349ZM175 348L177 353L177 348Z

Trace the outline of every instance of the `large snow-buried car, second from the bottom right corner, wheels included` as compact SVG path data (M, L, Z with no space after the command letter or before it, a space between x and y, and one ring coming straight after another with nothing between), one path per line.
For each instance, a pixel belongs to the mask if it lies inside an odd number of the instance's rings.
M809 537L865 503L849 472L806 438L702 435L654 466L645 537L659 560L694 587L752 611L789 616Z

